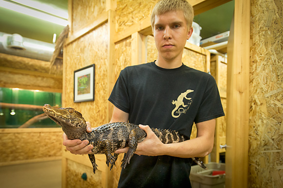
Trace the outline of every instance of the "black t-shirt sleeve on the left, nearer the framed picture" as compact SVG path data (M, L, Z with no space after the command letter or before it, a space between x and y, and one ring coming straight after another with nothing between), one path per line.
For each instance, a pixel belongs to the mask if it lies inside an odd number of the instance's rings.
M126 80L126 71L122 70L114 88L111 92L111 95L108 99L111 103L113 103L120 110L129 113L130 111L130 100L127 88L127 80Z

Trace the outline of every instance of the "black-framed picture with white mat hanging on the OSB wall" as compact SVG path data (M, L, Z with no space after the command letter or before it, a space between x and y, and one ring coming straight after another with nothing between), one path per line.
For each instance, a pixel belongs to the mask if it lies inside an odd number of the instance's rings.
M95 65L74 71L74 102L94 101Z

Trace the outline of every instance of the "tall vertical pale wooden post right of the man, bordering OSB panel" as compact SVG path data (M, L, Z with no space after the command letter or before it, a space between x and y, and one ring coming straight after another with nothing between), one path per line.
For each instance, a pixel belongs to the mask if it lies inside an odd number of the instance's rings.
M247 188L250 0L235 0L228 40L226 188Z

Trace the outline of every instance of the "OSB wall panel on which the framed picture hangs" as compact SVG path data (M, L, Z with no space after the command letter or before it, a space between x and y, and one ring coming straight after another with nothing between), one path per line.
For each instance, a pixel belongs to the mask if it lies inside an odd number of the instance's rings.
M107 23L77 39L65 47L65 92L63 107L73 107L80 111L92 127L105 124L107 120ZM74 103L74 71L95 64L95 101Z

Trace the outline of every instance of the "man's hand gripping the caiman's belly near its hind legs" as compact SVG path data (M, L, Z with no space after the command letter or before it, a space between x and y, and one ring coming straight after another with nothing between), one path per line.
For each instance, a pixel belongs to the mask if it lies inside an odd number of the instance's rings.
M139 125L139 127L146 132L145 139L138 143L135 154L157 156L162 155L162 146L164 145L160 139L154 134L148 125ZM128 147L116 150L116 154L127 153Z

